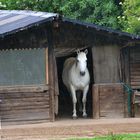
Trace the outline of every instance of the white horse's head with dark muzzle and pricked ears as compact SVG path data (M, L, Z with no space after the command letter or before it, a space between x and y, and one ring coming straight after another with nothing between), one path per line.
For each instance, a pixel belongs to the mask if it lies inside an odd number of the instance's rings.
M88 50L86 49L84 52L77 51L77 58L76 58L76 66L80 70L80 75L84 76L85 71L87 68L87 55Z

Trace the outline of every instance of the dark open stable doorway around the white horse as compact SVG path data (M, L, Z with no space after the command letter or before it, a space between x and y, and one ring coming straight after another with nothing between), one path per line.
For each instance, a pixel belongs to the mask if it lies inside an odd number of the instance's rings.
M58 97L58 118L71 118L72 117L72 109L73 109L73 104L72 104L72 99L70 93L67 91L65 85L63 84L62 81L62 71L63 71L63 64L64 61L69 58L69 57L75 57L76 52L73 52L69 55L62 56L62 57L57 57L56 62L57 62L57 72L58 72L58 85L59 85L59 97ZM93 84L93 64L92 64L92 53L91 49L88 48L88 54L87 54L87 67L90 73L90 87L89 91L87 94L87 114L88 118L92 117L92 84ZM82 118L81 112L78 111L78 103L77 103L77 115L78 118Z

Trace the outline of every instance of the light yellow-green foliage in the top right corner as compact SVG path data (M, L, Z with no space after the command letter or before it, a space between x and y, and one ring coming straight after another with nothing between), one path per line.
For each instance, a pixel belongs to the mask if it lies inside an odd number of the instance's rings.
M140 0L124 0L122 7L124 31L140 35Z

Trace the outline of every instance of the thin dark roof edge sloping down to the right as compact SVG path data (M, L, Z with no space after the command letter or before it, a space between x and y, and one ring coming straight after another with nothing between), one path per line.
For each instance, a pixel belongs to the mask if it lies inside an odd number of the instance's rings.
M87 23L87 22L83 22L83 21L79 21L79 20L75 20L75 19L69 19L69 18L65 18L65 17L62 18L62 21L63 22L68 22L68 23L73 23L73 24L78 24L78 25L81 25L81 26L85 26L87 28L94 28L98 31L101 30L101 31L105 31L105 32L108 32L108 33L114 33L118 36L125 36L125 37L128 37L128 38L131 38L132 40L140 41L140 36L139 35L130 34L130 33L127 33L127 32L122 32L122 31L119 31L119 30L115 30L115 29L112 29L112 28L109 28L109 27L104 27L104 26L97 25L97 24L94 24L94 23Z

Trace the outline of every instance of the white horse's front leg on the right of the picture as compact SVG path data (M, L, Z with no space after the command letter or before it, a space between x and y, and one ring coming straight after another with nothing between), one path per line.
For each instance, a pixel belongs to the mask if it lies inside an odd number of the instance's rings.
M83 102L83 117L87 117L87 113L86 113L86 101L87 101L88 89L89 89L89 85L87 85L84 88L84 90L83 90L83 98L82 98L82 102Z

